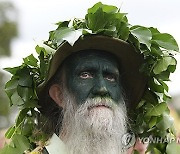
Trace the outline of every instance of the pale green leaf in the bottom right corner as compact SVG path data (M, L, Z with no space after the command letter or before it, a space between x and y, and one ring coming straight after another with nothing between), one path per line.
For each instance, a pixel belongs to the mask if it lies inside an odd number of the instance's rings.
M180 154L180 145L176 142L169 143L166 152L167 154Z

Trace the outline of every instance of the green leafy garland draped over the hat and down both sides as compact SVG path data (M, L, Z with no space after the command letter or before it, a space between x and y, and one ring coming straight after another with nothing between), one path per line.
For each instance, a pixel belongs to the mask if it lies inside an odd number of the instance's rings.
M139 137L158 136L163 138L168 136L175 138L172 118L167 107L170 96L166 81L169 81L170 73L175 71L177 62L174 55L179 48L171 35L160 33L153 27L132 26L128 23L126 13L121 13L115 6L104 5L100 2L88 9L85 19L75 18L70 21L58 22L57 25L57 29L51 31L49 39L45 41L47 46L55 50L64 41L73 45L85 35L105 35L132 44L136 51L144 57L145 63L140 71L148 76L144 96L136 111L131 115L132 121L134 121L131 126L133 132ZM6 69L13 75L6 84L6 93L10 98L11 105L17 105L21 110L16 124L8 130L6 136L13 139L18 134L23 135L31 143L27 144L27 149L33 148L34 143L43 140L43 135L34 138L35 132L33 132L36 127L37 115L41 114L38 111L36 93L37 87L46 80L49 63L54 54L53 52L48 53L45 48L39 46L36 47L36 51L37 59L30 55L24 58L21 66ZM167 142L150 144L148 151L170 153L170 147L173 146L174 144ZM177 149L179 150L179 148Z

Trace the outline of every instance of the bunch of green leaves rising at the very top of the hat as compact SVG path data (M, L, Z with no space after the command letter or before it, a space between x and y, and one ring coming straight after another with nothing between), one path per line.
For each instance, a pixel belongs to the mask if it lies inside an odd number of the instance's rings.
M100 30L103 31L106 29L106 31L109 30L114 32L112 35L108 34L109 36L117 37L115 35L115 33L117 33L116 30L119 29L118 27L120 27L121 21L125 16L125 14L121 14L117 11L118 9L114 6L107 6L103 5L102 3L97 3L94 7L88 10L88 14L85 17L87 27L96 34L99 34ZM107 34L104 33L104 35ZM126 38L126 36L124 37Z

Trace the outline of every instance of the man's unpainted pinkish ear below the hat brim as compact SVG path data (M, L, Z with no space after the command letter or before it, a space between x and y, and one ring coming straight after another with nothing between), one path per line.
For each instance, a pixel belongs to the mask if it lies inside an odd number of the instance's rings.
M64 107L62 103L62 89L59 84L53 84L50 87L49 95L60 107Z

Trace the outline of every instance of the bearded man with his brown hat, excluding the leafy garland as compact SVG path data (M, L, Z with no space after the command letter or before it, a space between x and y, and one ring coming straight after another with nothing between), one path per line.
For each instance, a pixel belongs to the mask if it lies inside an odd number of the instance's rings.
M127 56L137 63L124 71L121 59ZM53 57L40 95L40 110L49 119L43 123L46 133L56 132L69 153L126 152L122 141L128 132L126 106L137 96L127 98L122 81L135 73L138 88L143 88L138 72L141 58L126 42L105 36L85 37L74 46L63 44Z

